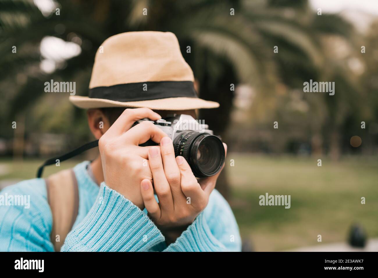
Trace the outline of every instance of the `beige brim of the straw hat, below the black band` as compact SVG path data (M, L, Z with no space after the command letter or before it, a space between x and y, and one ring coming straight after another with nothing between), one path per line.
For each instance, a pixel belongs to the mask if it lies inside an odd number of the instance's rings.
M167 99L152 99L130 102L119 102L109 99L93 99L84 96L70 96L70 102L83 109L106 107L146 107L153 110L191 110L200 108L217 108L218 102L198 99L195 97L170 97Z

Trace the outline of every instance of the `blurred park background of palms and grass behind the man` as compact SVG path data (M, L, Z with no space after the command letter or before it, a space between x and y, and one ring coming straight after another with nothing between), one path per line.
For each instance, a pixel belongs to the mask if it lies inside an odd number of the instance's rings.
M375 0L1 0L0 186L93 139L85 111L45 93L46 81L85 96L107 37L170 31L200 97L221 105L199 119L228 144L217 188L243 241L256 251L347 242L352 224L377 238L377 29ZM335 82L335 95L304 93L310 79ZM259 206L266 192L291 195L291 208Z

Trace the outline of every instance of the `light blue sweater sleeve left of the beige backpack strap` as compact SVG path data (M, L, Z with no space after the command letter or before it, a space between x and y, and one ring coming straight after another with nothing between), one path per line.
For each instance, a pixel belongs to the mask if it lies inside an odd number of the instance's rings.
M8 198L22 198L26 203L5 204ZM6 187L0 192L0 252L54 251L52 221L43 179Z

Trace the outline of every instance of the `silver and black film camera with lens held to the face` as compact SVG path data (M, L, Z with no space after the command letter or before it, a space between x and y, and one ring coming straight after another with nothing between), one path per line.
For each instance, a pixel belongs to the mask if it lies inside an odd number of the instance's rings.
M135 122L137 125L144 120ZM197 178L214 176L225 162L225 148L219 136L209 126L186 114L168 115L166 119L151 121L172 139L175 156L183 156ZM149 140L141 146L157 145Z

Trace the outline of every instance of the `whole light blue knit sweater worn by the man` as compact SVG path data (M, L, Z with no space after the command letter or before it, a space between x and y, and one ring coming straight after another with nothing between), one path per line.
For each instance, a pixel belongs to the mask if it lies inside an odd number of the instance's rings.
M240 251L234 215L214 190L205 210L176 242L166 245L156 225L124 196L87 173L88 161L74 167L79 213L61 251ZM52 215L44 179L6 187L0 195L30 195L30 207L0 205L0 251L54 251Z

